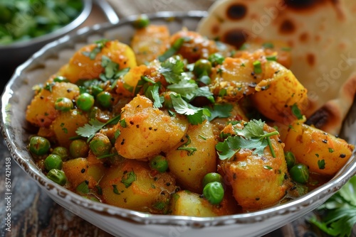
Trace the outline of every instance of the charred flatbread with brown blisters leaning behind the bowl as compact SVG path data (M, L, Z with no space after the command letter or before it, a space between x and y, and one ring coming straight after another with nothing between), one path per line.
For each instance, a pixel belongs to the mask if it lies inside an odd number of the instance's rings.
M338 134L356 91L356 1L222 0L197 31L240 47L283 40L308 89L309 124Z

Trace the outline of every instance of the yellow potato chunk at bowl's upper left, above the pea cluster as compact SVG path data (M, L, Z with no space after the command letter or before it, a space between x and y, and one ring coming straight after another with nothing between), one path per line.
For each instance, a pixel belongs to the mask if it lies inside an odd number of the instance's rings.
M93 58L90 58L90 53L97 48L97 44L91 44L78 50L68 64L61 68L58 75L66 77L72 83L77 82L78 79L99 78L100 74L104 72L103 55L109 57L112 62L116 62L120 69L136 66L135 54L124 43L117 40L108 41L103 48L98 50L98 53L93 54Z

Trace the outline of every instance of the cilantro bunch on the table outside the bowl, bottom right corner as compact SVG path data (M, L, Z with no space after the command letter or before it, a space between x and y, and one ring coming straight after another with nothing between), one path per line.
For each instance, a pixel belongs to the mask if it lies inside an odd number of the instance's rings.
M309 219L311 223L330 236L351 236L352 228L356 224L356 176L318 210L325 211L325 216L320 221L312 217Z

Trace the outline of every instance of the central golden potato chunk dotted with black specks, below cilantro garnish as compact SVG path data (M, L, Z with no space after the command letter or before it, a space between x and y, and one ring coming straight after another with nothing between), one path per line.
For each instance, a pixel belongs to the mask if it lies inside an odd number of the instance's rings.
M143 159L171 150L181 140L188 128L186 118L169 116L153 108L152 101L138 95L123 108L117 124L121 134L117 137L117 153L127 159Z

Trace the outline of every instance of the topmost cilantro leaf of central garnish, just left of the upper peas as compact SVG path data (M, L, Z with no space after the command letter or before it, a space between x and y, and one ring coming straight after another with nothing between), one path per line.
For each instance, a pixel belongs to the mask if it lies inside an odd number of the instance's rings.
M167 60L162 62L161 68L158 70L169 84L178 83L180 75L183 72L184 62L181 60Z

